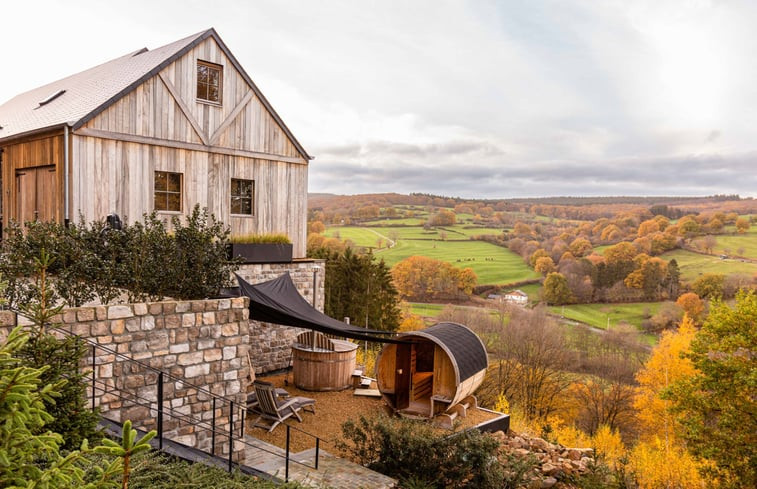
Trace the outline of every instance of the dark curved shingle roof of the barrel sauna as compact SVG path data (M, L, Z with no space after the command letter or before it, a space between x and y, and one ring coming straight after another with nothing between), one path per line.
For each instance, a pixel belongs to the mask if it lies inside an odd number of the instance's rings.
M462 324L437 323L430 328L413 331L409 335L431 337L439 346L452 356L452 362L457 364L459 382L473 377L488 365L486 348L481 339Z

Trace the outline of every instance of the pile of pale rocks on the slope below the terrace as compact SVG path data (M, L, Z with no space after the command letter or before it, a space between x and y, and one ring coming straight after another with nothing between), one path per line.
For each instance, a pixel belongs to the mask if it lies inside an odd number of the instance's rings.
M512 431L507 434L497 431L493 435L500 441L500 453L521 458L533 457L538 469L535 476L541 479L542 488L555 487L558 481L569 476L587 473L594 463L594 450L591 448L567 448Z

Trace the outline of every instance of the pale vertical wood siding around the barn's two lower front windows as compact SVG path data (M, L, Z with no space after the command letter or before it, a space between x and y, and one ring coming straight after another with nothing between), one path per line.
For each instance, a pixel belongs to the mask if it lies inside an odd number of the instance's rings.
M74 185L81 189L72 195L77 219L80 212L87 221L111 212L129 222L141 219L153 209L154 172L179 172L185 211L197 203L207 206L233 234L286 233L294 256L305 257L307 165L79 135L74 136L73 154ZM232 178L255 180L254 216L230 215Z

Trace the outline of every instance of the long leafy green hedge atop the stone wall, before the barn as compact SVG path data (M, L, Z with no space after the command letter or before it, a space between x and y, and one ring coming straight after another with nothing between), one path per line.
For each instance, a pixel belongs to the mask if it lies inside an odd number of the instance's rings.
M171 224L169 231L154 212L120 231L104 221L69 227L27 222L23 228L11 223L0 243L8 305L18 310L39 300L29 277L42 250L53 259L47 270L50 303L77 307L95 298L112 303L124 292L129 302L218 295L238 267L226 256L228 228L199 206Z

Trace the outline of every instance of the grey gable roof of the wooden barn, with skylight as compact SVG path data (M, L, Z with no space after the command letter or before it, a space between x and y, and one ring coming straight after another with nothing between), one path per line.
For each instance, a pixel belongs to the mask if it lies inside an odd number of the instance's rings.
M13 97L0 105L0 141L63 125L76 130L209 37L216 41L300 155L311 160L213 28L157 49L142 48ZM59 95L53 97L56 94ZM49 98L48 103L40 104Z

